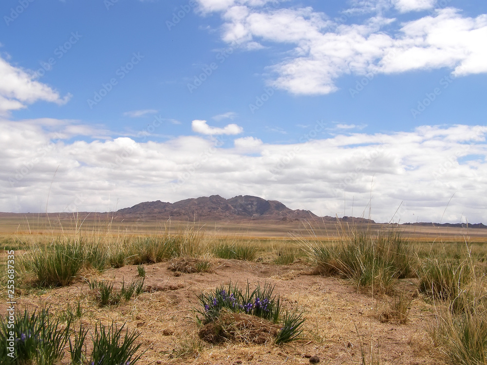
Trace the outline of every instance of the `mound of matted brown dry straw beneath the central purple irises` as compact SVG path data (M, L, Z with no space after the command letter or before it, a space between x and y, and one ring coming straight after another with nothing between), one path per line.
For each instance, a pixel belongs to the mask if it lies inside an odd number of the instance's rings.
M274 341L279 326L245 313L225 313L218 320L203 326L200 338L210 344L242 342L263 345Z

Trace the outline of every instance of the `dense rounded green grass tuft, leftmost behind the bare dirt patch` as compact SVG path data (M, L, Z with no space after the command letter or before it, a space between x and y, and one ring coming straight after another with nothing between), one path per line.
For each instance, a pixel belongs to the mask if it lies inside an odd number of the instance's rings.
M34 254L34 272L41 286L71 284L84 264L82 241L58 239L51 245L39 247Z

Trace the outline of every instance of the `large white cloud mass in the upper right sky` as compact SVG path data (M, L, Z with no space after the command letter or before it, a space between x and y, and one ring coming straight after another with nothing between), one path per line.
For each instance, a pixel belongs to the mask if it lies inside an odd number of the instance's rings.
M442 67L462 76L487 72L486 14L471 18L457 9L443 8L400 24L384 17L383 9L432 10L435 1L359 1L361 8L369 7L377 14L363 23L343 24L311 7L262 7L264 2L199 0L206 11L221 13L225 42L291 47L281 62L269 65L273 77L268 83L294 94L337 91L336 80L351 73Z

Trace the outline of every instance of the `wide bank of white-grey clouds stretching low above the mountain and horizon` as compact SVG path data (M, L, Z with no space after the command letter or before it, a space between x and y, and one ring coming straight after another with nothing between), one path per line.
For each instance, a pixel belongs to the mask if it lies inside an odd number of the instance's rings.
M401 201L393 221L439 221L453 194L443 222L487 221L485 126L423 126L291 145L243 137L226 148L203 136L68 142L50 123L0 121L1 211L44 211L54 177L49 211L249 194L323 216L368 217L372 187L376 221L391 220Z

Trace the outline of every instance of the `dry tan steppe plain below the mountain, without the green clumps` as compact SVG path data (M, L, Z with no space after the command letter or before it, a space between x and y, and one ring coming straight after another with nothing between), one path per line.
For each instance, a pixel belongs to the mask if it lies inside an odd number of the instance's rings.
M461 325L461 314L452 314L454 298L429 295L424 285L421 290L427 261L445 259L451 260L452 267L467 265L469 279L465 283L462 279L460 291L475 293L476 303L482 303L477 313L480 322L487 323L483 301L486 229L353 221L143 221L82 213L0 213L0 222L2 273L6 272L7 252L15 251L16 308L38 311L48 306L54 316L71 316L75 328L82 324L89 333L96 323L125 323L140 334L136 339L141 344L139 352L145 351L137 364L309 364L317 358L319 364L486 364L485 344L480 349L484 357L475 358L479 354L475 348L477 352L467 355L464 362L454 360L451 348L456 345L449 342L448 329L442 327L449 320L452 329ZM340 270L328 270L313 255L319 251L313 248L338 249L360 232L371 240L391 232L400 234L411 248L411 274L394 278L391 287L382 290L379 284L374 287L374 280L372 286L360 285ZM82 240L110 251L110 246L120 249L120 242L188 233L195 247L153 260L158 262L139 264L145 269L144 291L116 305L99 305L89 283L108 282L120 288L122 282L140 280L137 260L132 259L136 254L103 270L84 266L69 285L60 287L39 284L24 263L33 259L36 250L55 241ZM215 247L225 244L250 247L255 255L220 258ZM199 262L205 263L205 269L194 272L192 267ZM0 295L6 299L6 277L2 277ZM215 344L201 340L195 311L202 310L198 296L229 283L241 288L248 283L251 289L273 286L283 309L299 309L306 318L300 339L281 345L273 341L256 344L245 338ZM0 302L2 316L7 313L6 302ZM79 316L74 314L76 307ZM68 349L60 364L70 364Z

